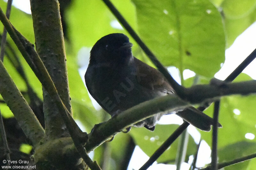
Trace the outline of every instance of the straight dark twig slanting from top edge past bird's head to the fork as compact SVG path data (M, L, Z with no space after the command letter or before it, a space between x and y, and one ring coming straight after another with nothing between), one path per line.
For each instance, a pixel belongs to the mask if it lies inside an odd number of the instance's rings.
M124 19L121 13L116 9L116 7L109 0L102 0L107 6L108 9L113 13L113 15L118 19L121 25L124 26L127 32L132 36L132 38L138 43L140 48L147 54L148 58L156 65L158 70L164 75L164 77L171 84L172 88L175 90L176 94L180 98L184 98L185 88L180 86L168 73L167 69L156 59L156 56L150 51L146 44L140 39L138 34L132 29L128 22Z

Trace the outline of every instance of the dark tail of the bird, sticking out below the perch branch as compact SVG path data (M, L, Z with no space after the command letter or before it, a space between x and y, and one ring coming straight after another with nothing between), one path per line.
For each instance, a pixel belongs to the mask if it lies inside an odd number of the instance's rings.
M188 123L201 129L202 131L211 130L211 125L213 124L213 118L207 116L202 111L192 106L188 107L183 111L177 112L176 115L180 116L182 119L186 120ZM218 127L222 127L222 125L218 123Z

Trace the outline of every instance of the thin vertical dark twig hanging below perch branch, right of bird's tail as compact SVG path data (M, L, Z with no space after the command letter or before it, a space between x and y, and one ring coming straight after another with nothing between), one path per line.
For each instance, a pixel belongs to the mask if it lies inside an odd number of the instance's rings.
M218 163L217 141L218 141L219 110L220 110L220 100L214 103L213 128L212 128L212 170L217 170L217 163Z

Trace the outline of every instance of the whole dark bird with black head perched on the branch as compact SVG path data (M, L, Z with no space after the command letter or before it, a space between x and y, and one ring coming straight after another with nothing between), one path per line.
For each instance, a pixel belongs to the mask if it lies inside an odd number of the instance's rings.
M132 43L122 33L108 34L95 43L84 79L91 96L112 117L156 97L176 95L160 71L133 56ZM211 130L213 119L192 106L176 114L203 131ZM154 131L163 115L157 113L133 126Z

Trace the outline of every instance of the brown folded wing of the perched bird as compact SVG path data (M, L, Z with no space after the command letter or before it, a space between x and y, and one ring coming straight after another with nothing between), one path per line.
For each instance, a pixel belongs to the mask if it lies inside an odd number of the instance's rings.
M161 91L166 94L173 94L172 86L167 82L164 75L155 68L143 63L134 57L136 65L136 76L138 82L145 88L150 90Z

